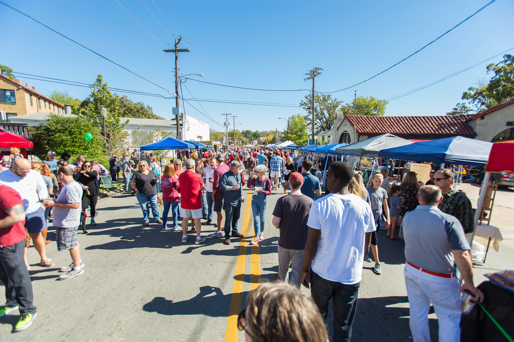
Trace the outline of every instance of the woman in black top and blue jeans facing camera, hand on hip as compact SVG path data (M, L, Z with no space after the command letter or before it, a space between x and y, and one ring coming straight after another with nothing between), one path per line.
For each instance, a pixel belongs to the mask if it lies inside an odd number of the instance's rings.
M159 177L149 169L148 164L144 160L137 164L137 172L132 176L130 184L136 192L137 201L143 212L144 226L150 225L150 213L148 206L152 209L152 215L155 222L162 224L159 217L159 208L157 207L157 183Z

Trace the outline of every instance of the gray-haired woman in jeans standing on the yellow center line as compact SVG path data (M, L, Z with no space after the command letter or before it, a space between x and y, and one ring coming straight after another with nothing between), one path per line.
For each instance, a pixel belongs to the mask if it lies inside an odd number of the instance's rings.
M248 188L255 187L252 196L252 212L253 212L253 229L255 230L255 238L251 244L255 245L264 239L264 220L266 217L266 209L268 202L266 196L271 195L271 181L264 176L267 168L265 165L255 167L255 177L248 179Z

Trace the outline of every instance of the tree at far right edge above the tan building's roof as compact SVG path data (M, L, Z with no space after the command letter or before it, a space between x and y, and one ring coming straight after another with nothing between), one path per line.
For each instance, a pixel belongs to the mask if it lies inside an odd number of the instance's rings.
M469 87L462 94L462 99L468 100L476 111L491 108L514 97L514 56L506 54L503 61L489 64L487 73L494 73L488 84L483 82L478 87Z

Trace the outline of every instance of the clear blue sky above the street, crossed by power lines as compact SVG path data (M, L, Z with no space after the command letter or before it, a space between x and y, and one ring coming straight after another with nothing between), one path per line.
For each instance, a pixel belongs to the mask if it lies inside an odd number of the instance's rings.
M323 73L316 78L316 90L327 92L352 86L387 69L488 3L487 0L3 1L170 93L175 92L174 55L162 50L173 48L178 35L182 36L179 47L191 50L179 54L179 71L183 75L203 73L201 81L239 87L309 89L311 83L304 81L304 74L320 67ZM6 6L0 5L0 13L4 24L0 64L15 72L88 84L101 73L109 87L170 96L168 91ZM357 96L392 98L514 48L513 14L514 2L497 0L407 61L333 96L348 103L356 90ZM514 53L514 49L509 53ZM498 63L501 59L495 57L432 87L391 100L386 115L444 115L461 102L462 92L468 87L489 79L485 69L488 63ZM20 77L23 83L29 82L45 95L53 90L67 90L73 97L83 99L89 94L88 88ZM182 92L186 99L289 106L189 100L197 111L190 104L184 106L180 102L182 112L218 131L224 130L218 125L224 122L223 113L238 116L236 123L241 125L237 129L284 129L286 122L278 117L304 114L298 104L308 93L242 90L193 81L187 81ZM174 99L127 96L151 106L160 116L172 117Z

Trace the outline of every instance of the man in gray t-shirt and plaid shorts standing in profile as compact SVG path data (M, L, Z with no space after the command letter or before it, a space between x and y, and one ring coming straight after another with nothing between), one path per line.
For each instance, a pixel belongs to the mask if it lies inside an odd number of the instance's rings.
M57 249L69 250L72 263L61 268L66 272L59 279L69 279L84 273L84 263L80 258L80 246L77 239L77 228L80 225L80 204L82 187L73 179L73 170L68 166L61 166L57 171L57 179L64 187L57 199L45 199L45 207L53 207L53 226L57 231Z

